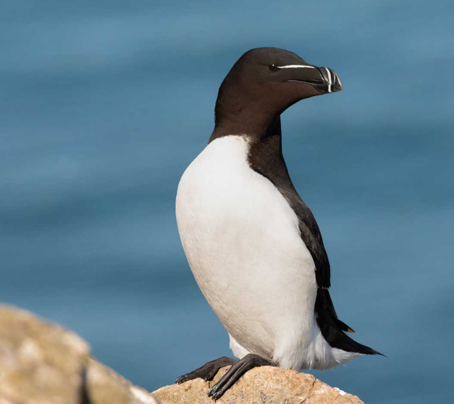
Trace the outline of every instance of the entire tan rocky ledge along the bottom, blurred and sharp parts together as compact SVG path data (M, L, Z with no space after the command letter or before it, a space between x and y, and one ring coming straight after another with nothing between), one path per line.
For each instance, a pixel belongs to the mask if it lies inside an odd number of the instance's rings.
M0 404L212 403L208 390L226 370L148 393L94 360L72 331L0 306ZM247 372L218 402L363 404L312 375L268 366Z

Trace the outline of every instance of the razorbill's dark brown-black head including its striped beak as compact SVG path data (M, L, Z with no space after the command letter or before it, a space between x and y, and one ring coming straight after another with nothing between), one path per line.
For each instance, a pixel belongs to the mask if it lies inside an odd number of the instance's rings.
M236 61L219 88L215 131L218 136L260 134L295 102L341 90L331 69L284 49L251 49Z

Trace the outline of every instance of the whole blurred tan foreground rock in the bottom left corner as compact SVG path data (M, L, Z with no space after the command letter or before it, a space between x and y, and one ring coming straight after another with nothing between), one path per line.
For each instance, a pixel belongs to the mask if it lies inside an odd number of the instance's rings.
M75 333L0 306L0 404L155 404Z

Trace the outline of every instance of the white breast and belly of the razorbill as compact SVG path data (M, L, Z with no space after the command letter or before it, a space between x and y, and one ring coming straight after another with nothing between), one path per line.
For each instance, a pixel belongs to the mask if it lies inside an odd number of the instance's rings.
M318 367L314 347L329 346L314 319L314 262L295 213L249 167L247 152L244 138L219 138L186 169L176 201L183 248L239 351L283 367Z

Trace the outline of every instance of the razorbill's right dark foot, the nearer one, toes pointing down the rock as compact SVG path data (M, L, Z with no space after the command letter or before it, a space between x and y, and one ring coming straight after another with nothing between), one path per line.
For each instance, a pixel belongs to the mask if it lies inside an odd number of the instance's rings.
M248 370L257 366L275 366L270 361L266 360L262 356L248 353L245 357L236 362L232 367L225 373L224 376L216 383L211 390L208 392L208 397L214 400L221 398L223 394L233 386L233 384Z

